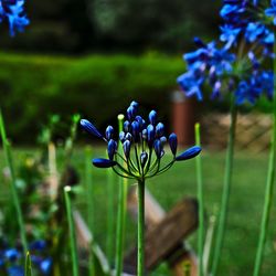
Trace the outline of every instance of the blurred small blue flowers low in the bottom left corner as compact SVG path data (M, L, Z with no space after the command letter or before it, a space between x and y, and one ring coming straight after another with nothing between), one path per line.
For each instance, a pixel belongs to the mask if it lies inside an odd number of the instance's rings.
M30 244L30 254L32 266L38 269L39 275L50 275L53 261L45 256L46 242L43 240L35 241ZM1 242L0 248L0 274L8 276L24 276L24 254L20 248L11 248L7 242Z

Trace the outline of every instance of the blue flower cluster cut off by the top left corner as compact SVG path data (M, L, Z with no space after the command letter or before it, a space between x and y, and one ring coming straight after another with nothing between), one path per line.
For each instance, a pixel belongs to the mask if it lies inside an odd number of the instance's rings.
M0 0L0 23L6 20L9 22L11 36L29 25L30 20L24 13L24 0Z

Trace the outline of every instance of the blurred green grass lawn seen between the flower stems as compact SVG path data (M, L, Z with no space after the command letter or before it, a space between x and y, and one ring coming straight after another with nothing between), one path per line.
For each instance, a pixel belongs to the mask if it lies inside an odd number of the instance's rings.
M17 149L14 160L17 162L26 155L33 153L31 149ZM38 152L38 151L35 151ZM104 156L103 148L96 148L93 157ZM220 208L222 191L222 180L224 172L224 152L203 151L203 176L204 197L206 213L213 214ZM84 184L85 158L84 149L77 148L74 151L73 163L79 171L81 184ZM0 168L3 168L3 156L0 151ZM263 209L265 182L267 171L267 156L252 155L250 152L237 153L235 157L235 168L233 187L231 191L231 202L229 209L227 232L225 244L221 257L220 276L246 276L252 275L255 259L257 235ZM105 248L106 243L106 209L107 209L107 174L105 170L94 169L93 184L95 193L95 237ZM1 178L0 178L1 181ZM115 182L117 179L115 179ZM2 181L1 181L2 182ZM132 182L129 182L130 184ZM1 185L1 183L0 183ZM116 189L117 183L115 183ZM182 198L197 194L194 160L179 162L167 173L155 178L147 183L148 189L157 198L160 204L170 210ZM8 199L9 190L1 188L1 202ZM275 198L275 197L274 197ZM86 210L86 193L81 193L77 198L77 205L84 212ZM116 211L116 204L115 204ZM274 201L272 221L267 245L265 248L264 266L262 276L275 276L276 267L276 204ZM135 244L136 226L128 219L126 248ZM191 243L195 243L195 236L191 236ZM115 238L114 238L115 240ZM152 275L168 275L166 268L159 268Z

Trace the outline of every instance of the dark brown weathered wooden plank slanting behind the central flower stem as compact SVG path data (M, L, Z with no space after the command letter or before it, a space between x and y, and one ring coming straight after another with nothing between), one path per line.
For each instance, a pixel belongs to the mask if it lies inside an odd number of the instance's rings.
M168 258L191 232L198 226L198 202L185 199L176 205L161 222L146 234L146 269L153 269L161 261ZM125 258L126 269L135 273L137 250L134 248ZM128 270L127 270L128 272Z

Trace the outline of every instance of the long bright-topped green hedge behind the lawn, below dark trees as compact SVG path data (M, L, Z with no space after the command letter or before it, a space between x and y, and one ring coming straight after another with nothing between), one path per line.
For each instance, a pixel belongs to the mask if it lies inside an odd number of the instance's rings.
M146 108L155 103L163 116L176 77L183 71L181 59L156 54L79 59L0 54L0 103L17 141L34 141L50 114L79 113L104 126L131 99Z

